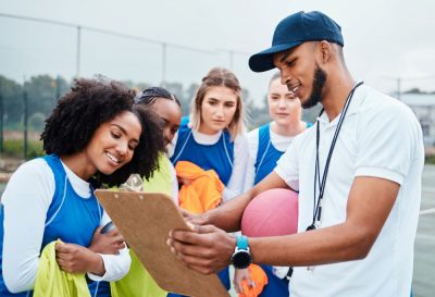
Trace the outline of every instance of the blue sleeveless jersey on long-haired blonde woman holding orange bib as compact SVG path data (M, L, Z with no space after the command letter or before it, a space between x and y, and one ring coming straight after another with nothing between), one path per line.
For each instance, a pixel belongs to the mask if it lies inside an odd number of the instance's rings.
M183 117L178 128L178 138L171 162L189 161L203 170L214 170L226 185L233 173L234 141L225 129L214 145L201 145L195 141L191 128L187 126L188 116Z

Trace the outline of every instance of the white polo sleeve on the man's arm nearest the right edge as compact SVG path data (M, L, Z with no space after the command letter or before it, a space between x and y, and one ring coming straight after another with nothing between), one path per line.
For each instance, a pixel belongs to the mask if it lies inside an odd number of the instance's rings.
M355 175L381 177L401 185L414 159L419 127L412 111L400 102L364 111L357 131Z

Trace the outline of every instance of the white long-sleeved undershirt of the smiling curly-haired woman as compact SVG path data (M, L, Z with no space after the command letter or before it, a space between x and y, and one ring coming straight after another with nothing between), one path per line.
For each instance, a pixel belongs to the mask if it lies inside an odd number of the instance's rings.
M90 197L89 184L63 164L72 187L83 199ZM33 289L39 264L39 256L46 216L55 189L54 175L42 159L26 162L12 175L1 202L4 206L4 237L2 273L12 293ZM20 220L16 220L20 218ZM110 222L105 212L100 225ZM128 249L120 255L100 255L105 273L98 276L88 273L94 281L116 281L129 270Z

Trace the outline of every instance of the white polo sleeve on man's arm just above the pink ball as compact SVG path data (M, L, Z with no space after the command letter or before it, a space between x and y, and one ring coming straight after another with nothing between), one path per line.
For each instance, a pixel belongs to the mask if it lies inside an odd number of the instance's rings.
M297 146L300 138L296 137L281 156L274 171L294 190L299 190L299 157Z

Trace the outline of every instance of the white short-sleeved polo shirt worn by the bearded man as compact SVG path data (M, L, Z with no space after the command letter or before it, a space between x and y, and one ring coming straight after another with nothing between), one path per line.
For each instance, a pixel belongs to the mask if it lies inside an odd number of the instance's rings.
M338 119L330 122L323 113L316 123L321 177ZM313 218L315 132L314 125L298 135L275 168L291 188L299 190L299 232L304 232ZM365 85L357 88L332 156L322 201L322 227L346 220L348 194L356 176L386 178L400 184L400 190L365 259L318 265L313 271L295 268L290 295L409 297L423 164L421 126L412 111Z

